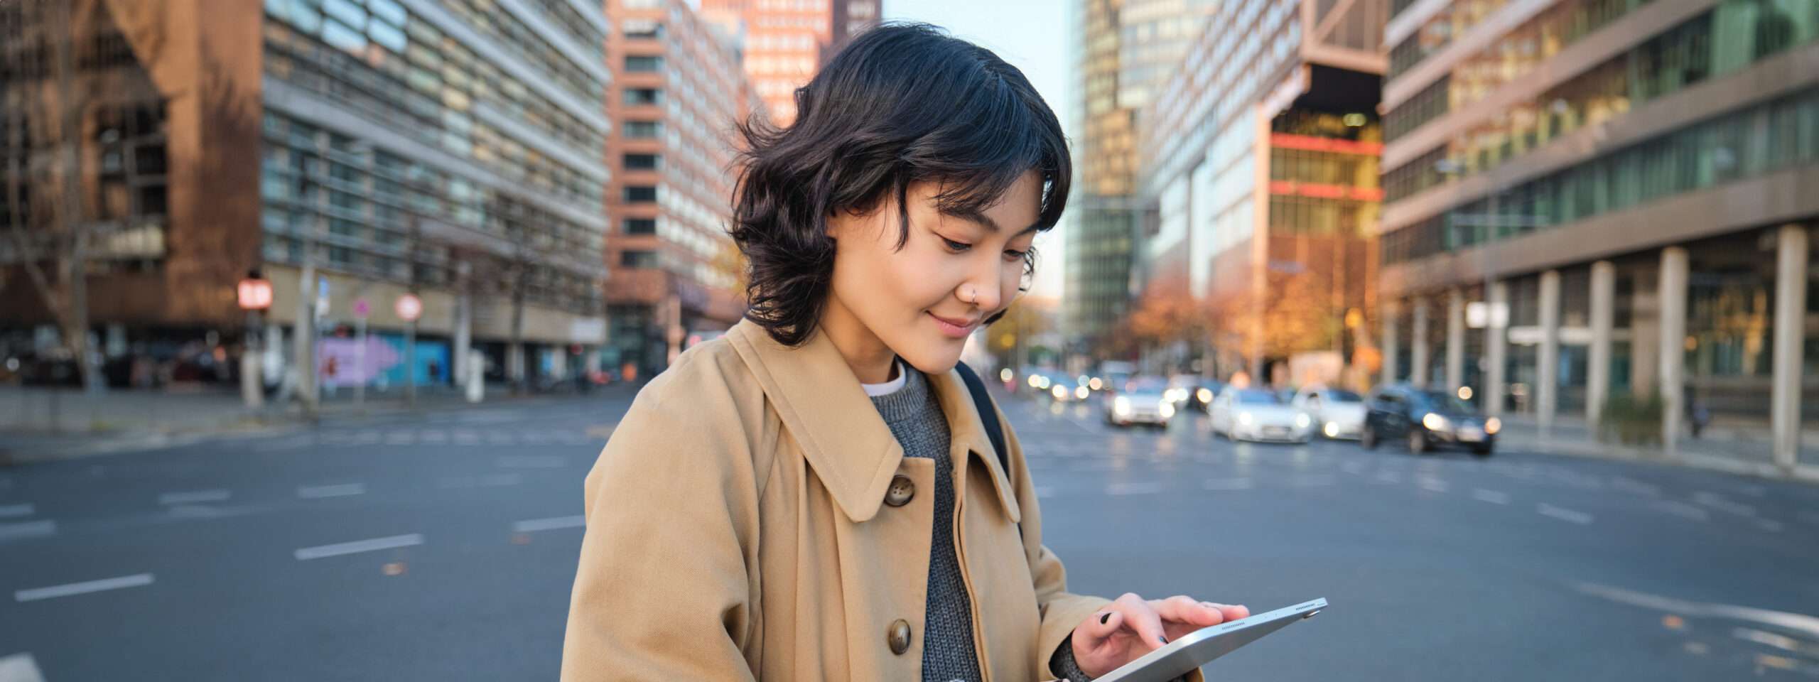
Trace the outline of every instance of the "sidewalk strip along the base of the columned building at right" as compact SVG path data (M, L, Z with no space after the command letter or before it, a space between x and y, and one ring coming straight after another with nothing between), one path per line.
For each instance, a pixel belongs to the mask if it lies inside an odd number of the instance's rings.
M1766 424L1713 424L1699 438L1683 433L1675 455L1668 455L1664 446L1599 442L1586 422L1579 418L1555 418L1548 435L1541 433L1530 415L1504 415L1502 424L1502 435L1497 436L1499 447L1819 482L1819 447L1815 447L1819 431L1814 429L1801 433L1804 447L1790 475L1775 466L1774 442Z

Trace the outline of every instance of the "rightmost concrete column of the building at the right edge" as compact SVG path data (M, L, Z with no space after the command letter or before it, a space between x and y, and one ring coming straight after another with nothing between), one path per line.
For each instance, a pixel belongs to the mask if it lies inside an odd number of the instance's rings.
M1801 366L1806 344L1806 226L1781 226L1775 258L1775 378L1770 426L1775 466L1792 473L1801 455Z

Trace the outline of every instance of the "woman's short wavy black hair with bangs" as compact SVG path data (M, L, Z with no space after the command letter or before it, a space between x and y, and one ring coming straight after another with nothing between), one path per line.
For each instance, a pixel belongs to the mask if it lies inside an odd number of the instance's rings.
M1055 113L1022 71L933 25L893 22L855 36L795 100L789 127L762 116L739 125L746 147L729 229L749 275L746 318L780 344L800 346L820 320L837 211L868 213L891 193L902 247L911 182L942 182L940 209L966 215L1037 171L1039 231L1068 204L1073 167ZM1024 267L1033 271L1033 253Z

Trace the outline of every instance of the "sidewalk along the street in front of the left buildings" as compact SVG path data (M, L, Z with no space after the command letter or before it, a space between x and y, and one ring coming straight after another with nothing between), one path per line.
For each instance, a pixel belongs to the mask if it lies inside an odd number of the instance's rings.
M417 406L407 406L402 391L367 391L364 404L355 404L353 393L342 389L324 398L317 418L342 422L528 400L604 398L628 391L635 387L606 386L586 395L511 395L506 386L487 386L486 400L469 404L460 391L424 387L417 395ZM266 404L260 411L251 411L240 402L240 391L229 387L111 389L85 395L80 389L0 386L0 467L175 447L233 435L284 433L307 424L307 415L295 402Z

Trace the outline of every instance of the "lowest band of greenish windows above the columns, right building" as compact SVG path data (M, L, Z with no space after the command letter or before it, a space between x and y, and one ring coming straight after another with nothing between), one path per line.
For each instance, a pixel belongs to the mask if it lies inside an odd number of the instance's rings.
M1819 164L1819 89L1697 122L1382 236L1384 264Z

